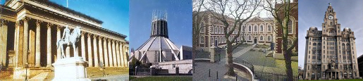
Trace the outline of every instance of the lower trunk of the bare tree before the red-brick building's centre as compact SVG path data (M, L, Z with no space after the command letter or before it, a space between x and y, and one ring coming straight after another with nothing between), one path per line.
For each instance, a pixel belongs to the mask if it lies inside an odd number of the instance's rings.
M228 59L228 72L226 73L226 75L229 76L235 76L235 71L233 70L233 56L232 56L232 45L228 44L227 45L227 59Z

